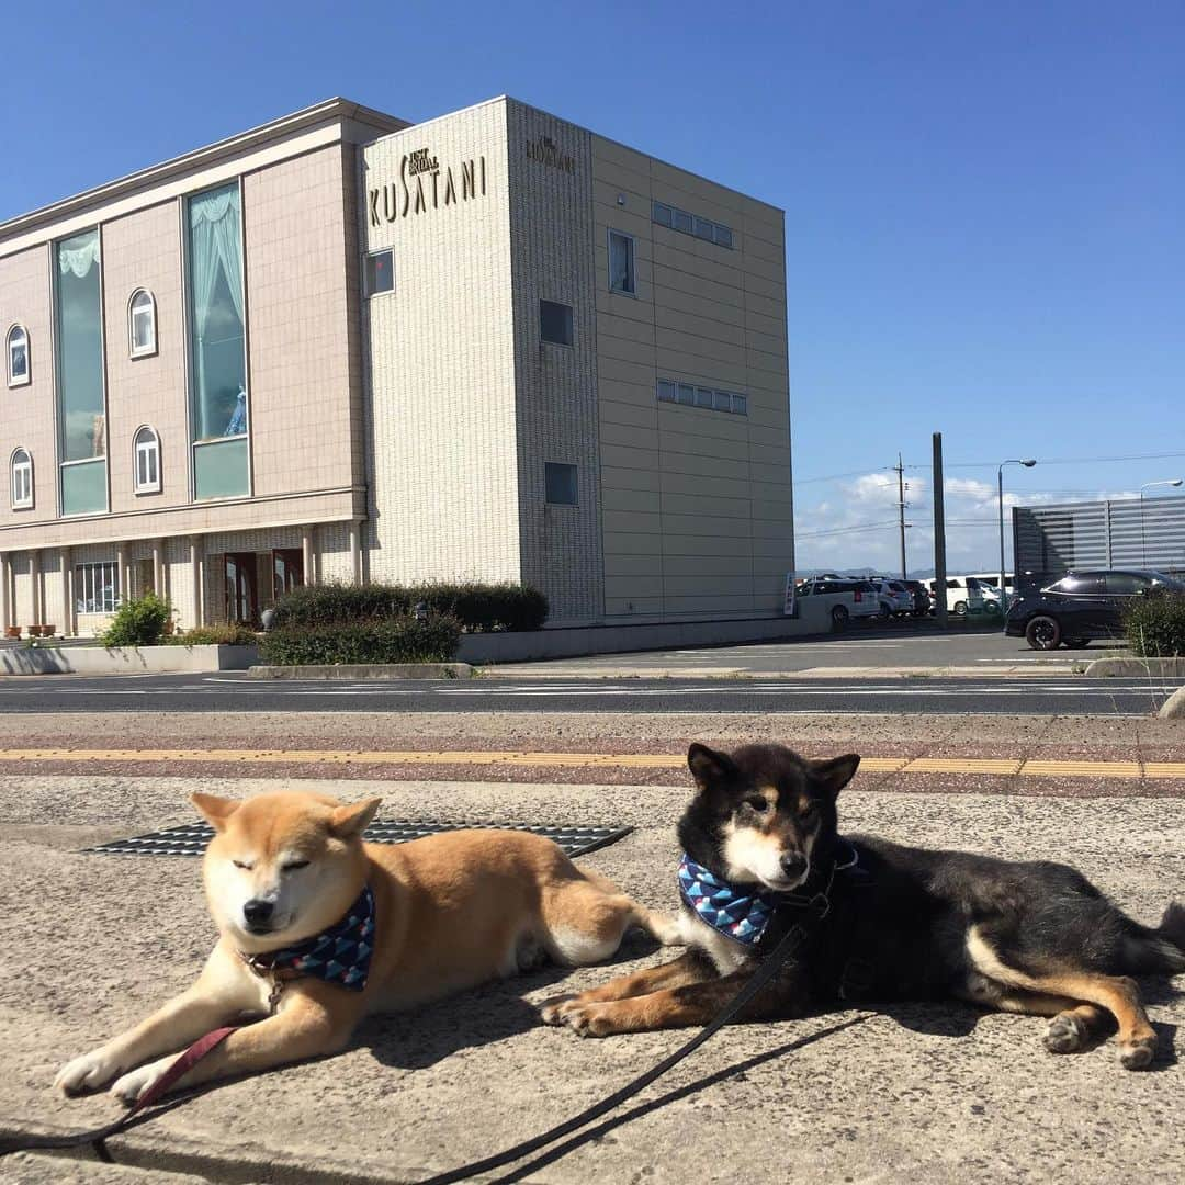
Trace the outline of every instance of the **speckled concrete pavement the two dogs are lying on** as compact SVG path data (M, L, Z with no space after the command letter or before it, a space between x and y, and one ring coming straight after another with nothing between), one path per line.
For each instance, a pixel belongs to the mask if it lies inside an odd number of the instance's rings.
M192 818L185 795L274 781L4 779L0 1019L7 1072L0 1126L75 1129L117 1114L105 1096L68 1102L49 1083L65 1058L185 987L213 941L198 863L79 854L85 844ZM340 783L305 781L334 793ZM620 822L627 839L585 858L653 905L674 908L672 825L686 789L354 781L386 818ZM1142 921L1185 897L1185 816L1176 799L1000 798L845 792L844 824L892 838L1077 864ZM8 1161L24 1181L415 1181L575 1114L687 1033L581 1040L538 1025L558 987L611 971L551 971L369 1023L338 1057L230 1083L111 1141L147 1176L45 1158ZM1180 982L1180 981L1178 981ZM1181 985L1185 986L1185 985ZM1185 997L1149 997L1162 1040L1153 1072L1122 1070L1109 1043L1053 1057L1043 1021L956 1005L844 1011L716 1037L643 1102L665 1106L525 1179L686 1181L1176 1181L1185 1177ZM860 1024L801 1044L837 1021ZM691 1089L730 1068L723 1081Z

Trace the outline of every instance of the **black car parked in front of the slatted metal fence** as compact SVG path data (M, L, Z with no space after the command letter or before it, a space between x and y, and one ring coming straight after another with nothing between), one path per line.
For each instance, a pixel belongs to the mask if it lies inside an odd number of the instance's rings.
M1008 607L1004 632L1035 651L1077 648L1093 638L1120 638L1133 597L1157 590L1185 592L1185 584L1147 568L1066 572L1040 591L1025 591Z

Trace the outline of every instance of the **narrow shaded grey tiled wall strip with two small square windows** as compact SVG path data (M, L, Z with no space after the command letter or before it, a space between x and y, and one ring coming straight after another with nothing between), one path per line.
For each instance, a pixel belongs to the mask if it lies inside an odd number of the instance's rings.
M590 136L513 101L507 126L523 579L546 592L552 622L598 621L604 609ZM556 158L529 154L529 146L545 140ZM572 308L570 346L542 339L540 300ZM547 505L549 461L576 466L578 505Z

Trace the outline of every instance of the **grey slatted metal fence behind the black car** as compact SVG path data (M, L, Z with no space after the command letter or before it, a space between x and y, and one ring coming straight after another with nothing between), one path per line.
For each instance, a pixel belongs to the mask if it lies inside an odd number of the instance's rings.
M1014 506L1017 583L1048 583L1071 568L1185 571L1185 497Z

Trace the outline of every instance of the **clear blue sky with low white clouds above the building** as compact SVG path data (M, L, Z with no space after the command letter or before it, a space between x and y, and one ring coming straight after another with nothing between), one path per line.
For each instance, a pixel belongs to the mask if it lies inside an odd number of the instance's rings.
M0 218L334 94L512 94L782 206L800 568L893 563L852 529L898 450L930 564L935 430L953 570L1000 460L1024 501L1185 475L1179 2L44 5L17 45Z

